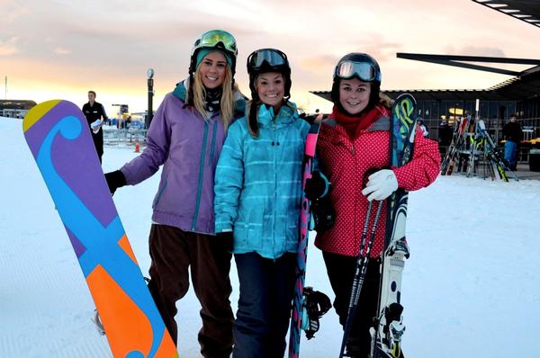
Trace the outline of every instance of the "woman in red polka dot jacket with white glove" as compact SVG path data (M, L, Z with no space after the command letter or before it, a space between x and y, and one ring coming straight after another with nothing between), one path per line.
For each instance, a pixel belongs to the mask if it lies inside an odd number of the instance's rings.
M398 187L407 191L426 187L433 183L440 166L437 142L425 139L422 131L417 130L410 162L388 169L391 100L380 94L380 87L381 70L374 58L363 53L341 58L332 85L334 108L329 119L322 122L317 143L320 166L331 183L329 199L336 217L332 228L317 234L315 246L323 252L336 294L334 308L343 326L347 321L368 201L383 201ZM308 184L311 189L320 187L320 183L315 183L318 178L314 175ZM374 211L370 222L374 220ZM369 352L369 327L376 316L385 219L384 202L347 341L347 354L353 357L365 358Z

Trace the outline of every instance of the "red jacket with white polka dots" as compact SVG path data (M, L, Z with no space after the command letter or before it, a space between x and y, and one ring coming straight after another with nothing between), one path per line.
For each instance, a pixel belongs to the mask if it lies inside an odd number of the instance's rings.
M378 112L378 118L366 130L358 130L356 139L351 139L333 117L321 125L317 152L320 166L331 183L329 195L336 210L334 226L317 234L315 246L322 251L347 256L359 254L368 205L362 195L367 182L365 174L373 169L388 167L390 163L390 111L378 105L365 116L373 115L373 111ZM407 165L392 167L392 170L399 187L415 191L435 181L440 161L437 142L425 139L422 131L417 130L412 159ZM383 205L371 257L377 257L383 252L386 202ZM370 222L373 222L374 216L375 210L372 210Z

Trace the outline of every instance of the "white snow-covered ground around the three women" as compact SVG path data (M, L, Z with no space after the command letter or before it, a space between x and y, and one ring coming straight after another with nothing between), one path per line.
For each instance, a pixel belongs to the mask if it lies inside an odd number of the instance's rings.
M65 230L26 147L22 121L0 118L0 357L108 357L90 320L94 304ZM135 157L106 147L103 170ZM121 188L114 201L143 273L158 175ZM411 257L403 277L403 349L409 358L538 357L540 182L439 177L410 194ZM312 240L311 240L312 241ZM238 278L231 273L233 309ZM320 251L310 247L309 285L333 298ZM199 357L200 306L178 302L179 354ZM302 357L338 355L334 310L302 339Z

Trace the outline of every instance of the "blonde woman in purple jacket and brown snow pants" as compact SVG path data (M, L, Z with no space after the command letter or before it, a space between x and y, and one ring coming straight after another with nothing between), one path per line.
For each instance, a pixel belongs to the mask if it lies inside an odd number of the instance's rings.
M175 303L189 288L201 302L204 357L229 357L233 315L229 282L232 242L214 236L214 173L231 121L243 114L234 85L234 38L208 31L195 41L189 78L166 94L148 129L143 153L105 175L113 193L154 175L163 165L152 208L148 287L176 342Z

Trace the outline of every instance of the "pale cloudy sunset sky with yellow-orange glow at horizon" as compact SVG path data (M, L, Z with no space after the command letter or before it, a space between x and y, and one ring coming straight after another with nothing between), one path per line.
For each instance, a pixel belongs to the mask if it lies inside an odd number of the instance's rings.
M111 116L147 106L146 71L155 75L154 109L187 76L193 41L220 28L238 41L236 80L249 94L246 58L282 49L291 60L293 101L329 110L308 94L328 90L338 58L370 53L383 89L473 89L509 76L396 58L396 52L540 58L540 29L470 0L0 0L0 98L82 106L93 89ZM503 66L522 70L527 67Z

